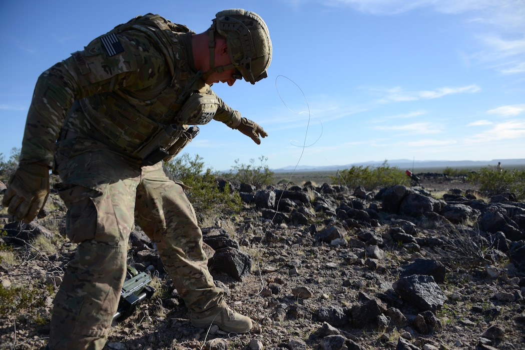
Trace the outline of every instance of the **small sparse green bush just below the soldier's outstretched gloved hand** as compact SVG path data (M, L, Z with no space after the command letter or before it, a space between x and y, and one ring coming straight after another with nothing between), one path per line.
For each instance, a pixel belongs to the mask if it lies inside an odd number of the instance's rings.
M272 172L266 161L268 157L260 156L260 165L254 165L255 160L251 159L250 164L239 164L239 160L235 160L235 165L230 169L226 177L238 183L245 183L261 188L264 185L269 185L274 181L274 172Z

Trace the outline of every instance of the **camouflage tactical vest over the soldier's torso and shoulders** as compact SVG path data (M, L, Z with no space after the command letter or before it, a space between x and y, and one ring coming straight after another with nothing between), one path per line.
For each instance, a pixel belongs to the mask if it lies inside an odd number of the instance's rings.
M115 89L81 99L82 113L75 113L76 120L66 121L66 129L80 130L113 149L117 146L125 153L144 158L144 145L174 123L190 93L203 89L205 84L199 74L188 69L186 52L178 41L178 36L190 32L187 27L148 14L117 26L108 34L124 31L139 31L149 38L155 50L162 52L171 80L166 79L153 90ZM181 125L181 130L172 136L177 138L187 129L187 125Z

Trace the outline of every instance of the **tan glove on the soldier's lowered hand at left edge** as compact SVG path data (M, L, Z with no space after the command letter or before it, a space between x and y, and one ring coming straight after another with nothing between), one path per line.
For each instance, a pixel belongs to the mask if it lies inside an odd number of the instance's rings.
M39 163L20 165L9 179L2 204L7 214L26 224L33 221L49 195L49 168Z

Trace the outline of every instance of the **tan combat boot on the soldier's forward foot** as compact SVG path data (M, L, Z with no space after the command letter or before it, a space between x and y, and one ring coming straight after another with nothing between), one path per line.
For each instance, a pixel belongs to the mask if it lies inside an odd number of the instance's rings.
M233 311L229 306L224 304L218 307L217 312L207 317L199 318L192 315L191 321L195 327L206 328L212 324L216 324L225 332L235 333L246 333L251 330L252 327L249 317Z

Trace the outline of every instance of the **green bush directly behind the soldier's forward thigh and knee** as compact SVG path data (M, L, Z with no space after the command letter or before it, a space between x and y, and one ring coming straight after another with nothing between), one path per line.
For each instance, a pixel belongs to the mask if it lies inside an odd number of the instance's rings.
M174 178L191 187L186 190L186 195L197 211L239 210L239 194L230 193L229 188L220 190L216 182L217 172L211 168L204 169L202 160L198 154L192 159L189 154L184 153L166 163L166 167Z

